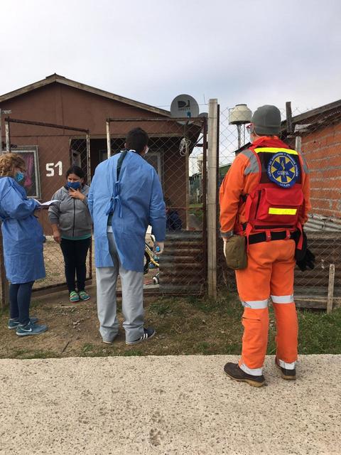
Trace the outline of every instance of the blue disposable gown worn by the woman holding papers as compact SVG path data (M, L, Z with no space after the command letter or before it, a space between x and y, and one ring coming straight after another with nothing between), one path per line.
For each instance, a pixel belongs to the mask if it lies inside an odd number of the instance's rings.
M7 279L33 282L45 277L43 229L33 215L38 202L11 177L0 178L0 218Z

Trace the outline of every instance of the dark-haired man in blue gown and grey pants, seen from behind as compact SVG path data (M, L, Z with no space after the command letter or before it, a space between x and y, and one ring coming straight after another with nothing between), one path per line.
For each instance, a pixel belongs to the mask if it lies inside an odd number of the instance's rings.
M112 343L119 332L116 284L121 279L126 344L146 341L154 328L144 328L144 242L148 225L163 252L166 209L161 183L144 160L148 135L141 128L126 136L126 150L97 166L90 186L88 207L94 223L99 332Z

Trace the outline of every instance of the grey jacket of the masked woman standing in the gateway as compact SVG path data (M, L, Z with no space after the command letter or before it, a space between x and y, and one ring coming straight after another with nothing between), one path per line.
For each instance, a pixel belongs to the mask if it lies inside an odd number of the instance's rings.
M90 187L83 185L81 192L87 196ZM62 237L82 237L91 234L92 219L85 200L74 199L62 186L52 197L59 200L48 209L48 219L51 224L57 224Z

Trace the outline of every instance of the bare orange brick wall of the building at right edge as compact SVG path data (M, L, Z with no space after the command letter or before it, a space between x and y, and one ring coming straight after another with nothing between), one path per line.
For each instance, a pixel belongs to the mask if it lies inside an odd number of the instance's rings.
M341 123L302 137L310 168L311 213L341 218Z

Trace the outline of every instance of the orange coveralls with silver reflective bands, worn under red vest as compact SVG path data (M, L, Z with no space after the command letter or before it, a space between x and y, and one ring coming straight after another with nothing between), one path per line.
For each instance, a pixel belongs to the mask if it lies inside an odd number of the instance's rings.
M278 138L260 137L252 145L258 147L288 146ZM310 210L308 166L301 154L301 183L305 199L303 225ZM220 230L222 237L234 231L234 224L245 223L245 204L240 196L254 191L259 181L259 164L251 151L240 153L220 187ZM259 232L259 231L257 231ZM251 232L251 234L254 232ZM245 373L261 375L266 355L269 330L268 301L274 304L276 315L276 358L283 368L295 368L297 360L298 321L293 301L295 242L272 240L249 245L247 268L236 270L239 298L244 306L242 323L242 357L239 367Z

